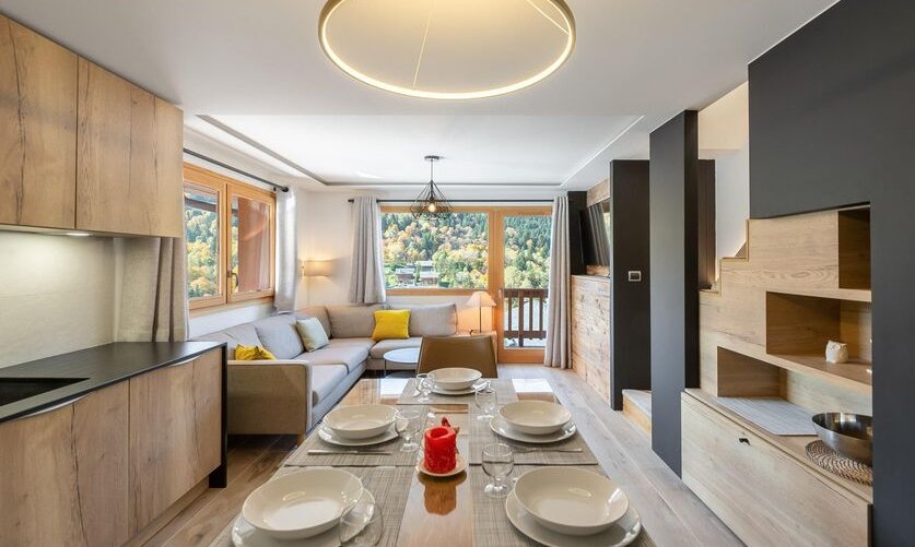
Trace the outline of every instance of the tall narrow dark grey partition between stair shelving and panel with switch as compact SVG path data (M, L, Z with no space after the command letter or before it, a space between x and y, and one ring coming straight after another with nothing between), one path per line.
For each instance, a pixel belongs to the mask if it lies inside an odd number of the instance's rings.
M699 385L695 111L650 136L652 448L680 474L680 393Z

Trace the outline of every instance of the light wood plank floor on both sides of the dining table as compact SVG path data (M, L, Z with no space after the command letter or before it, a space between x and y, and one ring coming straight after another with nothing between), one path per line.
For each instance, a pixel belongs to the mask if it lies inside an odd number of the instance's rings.
M552 382L600 464L625 489L659 546L742 545L652 452L648 437L622 413L610 409L575 372L505 365L500 366L498 373L502 378L547 378ZM208 490L146 545L209 545L238 514L248 494L270 478L294 447L295 437L230 438L228 486Z

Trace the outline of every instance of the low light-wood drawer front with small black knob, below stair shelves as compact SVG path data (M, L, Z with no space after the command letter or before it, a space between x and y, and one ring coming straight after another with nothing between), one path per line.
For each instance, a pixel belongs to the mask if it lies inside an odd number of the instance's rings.
M749 546L867 546L869 503L690 394L683 481Z

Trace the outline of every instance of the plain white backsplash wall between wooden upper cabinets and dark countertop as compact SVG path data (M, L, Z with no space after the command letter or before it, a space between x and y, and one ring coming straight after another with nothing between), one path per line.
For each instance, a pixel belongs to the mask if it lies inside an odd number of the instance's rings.
M0 367L114 340L114 239L0 231Z

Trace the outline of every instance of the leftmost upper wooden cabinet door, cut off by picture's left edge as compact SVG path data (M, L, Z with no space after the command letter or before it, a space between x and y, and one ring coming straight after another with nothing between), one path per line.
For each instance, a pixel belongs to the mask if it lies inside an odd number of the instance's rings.
M73 227L77 60L0 16L0 224Z

